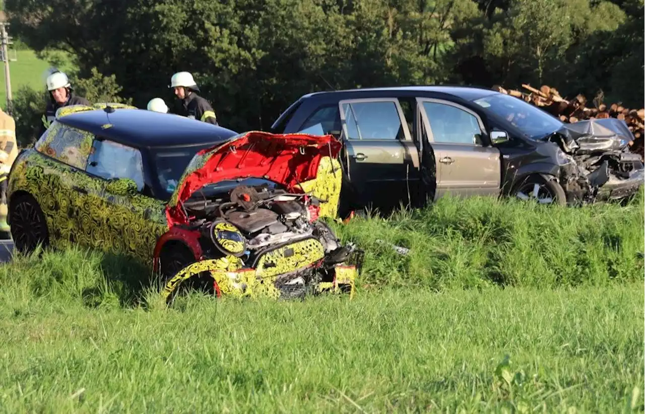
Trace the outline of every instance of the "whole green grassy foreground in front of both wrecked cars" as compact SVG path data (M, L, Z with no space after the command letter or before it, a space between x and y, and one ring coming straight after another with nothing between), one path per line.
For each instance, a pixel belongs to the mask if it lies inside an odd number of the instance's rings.
M195 295L166 310L128 262L18 257L0 266L0 409L643 409L644 219L641 195L582 209L447 199L358 220L338 226L367 251L354 301Z

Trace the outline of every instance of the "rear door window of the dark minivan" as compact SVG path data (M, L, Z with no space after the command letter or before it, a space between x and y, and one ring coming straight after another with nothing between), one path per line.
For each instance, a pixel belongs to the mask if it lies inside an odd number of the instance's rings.
M342 104L349 139L404 139L399 110L393 101Z

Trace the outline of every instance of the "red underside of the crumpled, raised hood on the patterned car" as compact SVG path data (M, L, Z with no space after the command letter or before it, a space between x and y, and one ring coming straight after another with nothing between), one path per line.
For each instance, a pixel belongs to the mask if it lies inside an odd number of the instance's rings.
M342 144L332 135L268 133L252 131L228 143L197 153L213 152L203 166L184 173L166 208L168 224L188 222L181 203L208 184L219 181L263 178L283 184L289 191L302 193L299 182L316 177L322 157L336 157Z

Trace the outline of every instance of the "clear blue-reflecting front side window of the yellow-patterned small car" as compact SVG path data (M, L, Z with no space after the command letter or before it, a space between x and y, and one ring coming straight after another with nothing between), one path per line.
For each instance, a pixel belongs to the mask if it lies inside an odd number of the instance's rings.
M137 183L139 192L143 190L141 152L130 146L107 139L95 139L86 172L106 180L129 178Z

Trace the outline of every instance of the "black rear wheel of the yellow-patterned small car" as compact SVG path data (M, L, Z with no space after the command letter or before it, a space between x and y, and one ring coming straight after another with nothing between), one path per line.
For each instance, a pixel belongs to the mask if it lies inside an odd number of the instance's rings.
M30 194L19 194L9 205L11 237L21 253L31 253L40 244L49 246L49 230L45 214Z

